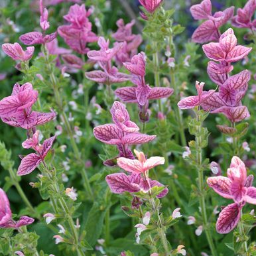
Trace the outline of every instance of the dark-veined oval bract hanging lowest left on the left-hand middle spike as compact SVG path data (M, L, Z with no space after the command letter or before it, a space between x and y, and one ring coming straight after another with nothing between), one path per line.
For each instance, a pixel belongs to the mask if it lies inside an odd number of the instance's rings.
M23 157L18 168L17 175L22 176L31 173L40 164L40 162L40 157L34 153Z

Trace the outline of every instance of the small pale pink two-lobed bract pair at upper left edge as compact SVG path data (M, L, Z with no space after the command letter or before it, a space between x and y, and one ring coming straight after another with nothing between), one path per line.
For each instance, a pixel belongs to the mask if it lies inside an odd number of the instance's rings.
M3 44L2 49L3 52L13 60L27 61L30 60L34 54L34 46L27 47L27 50L24 51L17 42L14 44Z

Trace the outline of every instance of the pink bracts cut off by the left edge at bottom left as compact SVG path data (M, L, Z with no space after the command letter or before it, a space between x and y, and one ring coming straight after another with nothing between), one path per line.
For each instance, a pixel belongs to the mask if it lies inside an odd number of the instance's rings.
M23 225L29 225L34 222L34 219L28 217L28 216L21 216L21 218L15 222L11 218L11 208L10 203L7 198L7 194L0 188L0 227L2 228L15 228L18 229L19 227L22 227Z

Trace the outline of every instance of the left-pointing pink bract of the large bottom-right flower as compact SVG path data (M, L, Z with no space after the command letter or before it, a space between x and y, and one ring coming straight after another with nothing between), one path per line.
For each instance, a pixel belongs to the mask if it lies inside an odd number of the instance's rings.
M229 178L224 176L210 177L207 179L207 184L213 188L216 193L220 194L220 196L229 199L233 198L229 192L231 185L231 180L229 180Z

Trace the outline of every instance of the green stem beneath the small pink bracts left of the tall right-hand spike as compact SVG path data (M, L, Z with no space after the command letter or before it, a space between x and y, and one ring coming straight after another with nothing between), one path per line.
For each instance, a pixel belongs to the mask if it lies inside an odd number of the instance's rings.
M198 115L198 112L196 111L196 121L200 122L200 118ZM212 251L212 256L218 256L216 252L216 248L214 245L214 240L212 239L212 233L210 232L209 226L208 226L208 218L207 218L207 212L206 212L206 198L204 194L204 168L202 166L202 123L200 125L196 126L196 161L197 161L197 170L198 170L198 186L199 186L199 192L200 192L200 208L201 208L201 214L202 214L202 221L203 221L203 227L204 231L206 232L206 238L208 240L208 244L210 246L210 249Z

